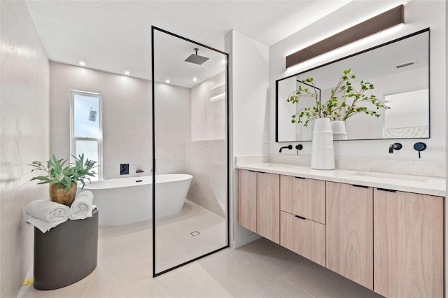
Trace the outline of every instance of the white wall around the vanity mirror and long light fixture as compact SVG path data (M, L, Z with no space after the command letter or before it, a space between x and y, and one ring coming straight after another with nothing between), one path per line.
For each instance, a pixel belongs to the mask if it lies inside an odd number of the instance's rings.
M285 69L285 57L301 48L321 41L346 28L378 15L390 8L405 3L405 24L395 27L385 34L377 34L365 38L360 43L353 43L336 50L330 55L297 64ZM393 140L375 141L335 141L335 156L346 158L380 158L380 159L409 159L419 160L413 149L416 141L423 141L428 145L422 152L421 160L446 160L446 29L445 29L445 1L352 1L339 8L334 13L269 48L269 152L276 154L279 143L275 143L275 80L285 78L294 73L310 69L311 67L330 62L354 52L371 48L373 45L391 41L400 36L430 27L430 139L400 140L403 148L393 155L388 154L388 146ZM349 15L350 17L346 17ZM328 57L330 56L330 57ZM302 142L304 149L301 155L311 155L311 143ZM288 150L283 155L295 155L295 150Z

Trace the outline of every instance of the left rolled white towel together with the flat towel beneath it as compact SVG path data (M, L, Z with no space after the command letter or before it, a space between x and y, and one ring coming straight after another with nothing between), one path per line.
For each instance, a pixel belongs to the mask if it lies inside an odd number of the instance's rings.
M68 206L42 199L31 201L25 207L25 213L29 215L27 223L34 225L42 233L66 222L69 219L69 210Z

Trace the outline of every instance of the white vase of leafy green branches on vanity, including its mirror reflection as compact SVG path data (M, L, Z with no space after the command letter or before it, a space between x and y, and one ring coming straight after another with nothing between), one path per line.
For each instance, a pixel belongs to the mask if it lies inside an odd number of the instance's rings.
M356 76L351 74L351 69L345 69L337 81L336 87L331 90L330 98L325 102L319 96L320 93L318 93L314 78L302 80L301 83L309 87L299 85L297 90L291 92L286 99L292 104L297 104L303 97L311 97L315 101L314 106L307 106L293 114L291 120L293 123L303 123L304 127L308 127L309 121L314 120L311 169L335 169L333 133L339 129L337 136L340 138L342 135L343 137L340 139L346 139L345 120L359 113L379 117L380 114L377 110L388 109L388 106L377 99L374 94L365 94L367 90L374 89L373 84L361 80L357 90L351 83L354 78ZM341 102L337 98L339 95L342 98ZM365 106L365 103L372 105L372 108ZM337 124L338 128L335 125L332 128L330 121Z

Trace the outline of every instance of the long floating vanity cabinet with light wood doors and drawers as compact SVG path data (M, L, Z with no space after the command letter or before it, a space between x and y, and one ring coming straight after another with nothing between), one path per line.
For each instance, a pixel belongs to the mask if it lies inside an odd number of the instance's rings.
M385 297L444 295L444 197L239 170L238 222Z

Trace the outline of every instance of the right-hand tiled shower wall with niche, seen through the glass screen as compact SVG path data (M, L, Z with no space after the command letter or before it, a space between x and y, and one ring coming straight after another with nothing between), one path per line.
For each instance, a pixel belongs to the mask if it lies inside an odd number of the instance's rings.
M193 175L188 199L218 215L227 213L225 73L191 90L191 141L186 172Z

